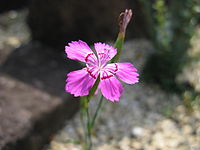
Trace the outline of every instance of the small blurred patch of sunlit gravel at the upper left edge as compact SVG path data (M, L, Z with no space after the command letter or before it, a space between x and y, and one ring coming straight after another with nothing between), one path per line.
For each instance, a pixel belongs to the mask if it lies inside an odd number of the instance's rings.
M26 16L27 10L8 11L0 15L0 64L15 48L30 41Z

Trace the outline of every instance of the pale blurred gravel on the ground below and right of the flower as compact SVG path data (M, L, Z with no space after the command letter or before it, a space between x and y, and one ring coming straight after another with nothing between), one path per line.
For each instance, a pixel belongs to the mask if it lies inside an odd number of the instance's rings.
M131 61L141 72L146 58L153 52L146 40L132 40L124 45L122 61ZM95 150L199 150L200 111L192 113L176 94L165 93L156 85L124 85L118 103L104 100L103 109L93 133ZM91 101L91 111L99 96ZM66 143L81 140L83 131L79 114L66 122L48 146L49 150L81 150L81 145Z

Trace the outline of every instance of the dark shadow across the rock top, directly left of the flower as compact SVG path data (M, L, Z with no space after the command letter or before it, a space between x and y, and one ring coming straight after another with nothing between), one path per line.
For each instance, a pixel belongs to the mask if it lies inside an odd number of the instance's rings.
M63 96L66 74L80 64L66 58L59 50L31 42L14 50L1 71L51 95Z

